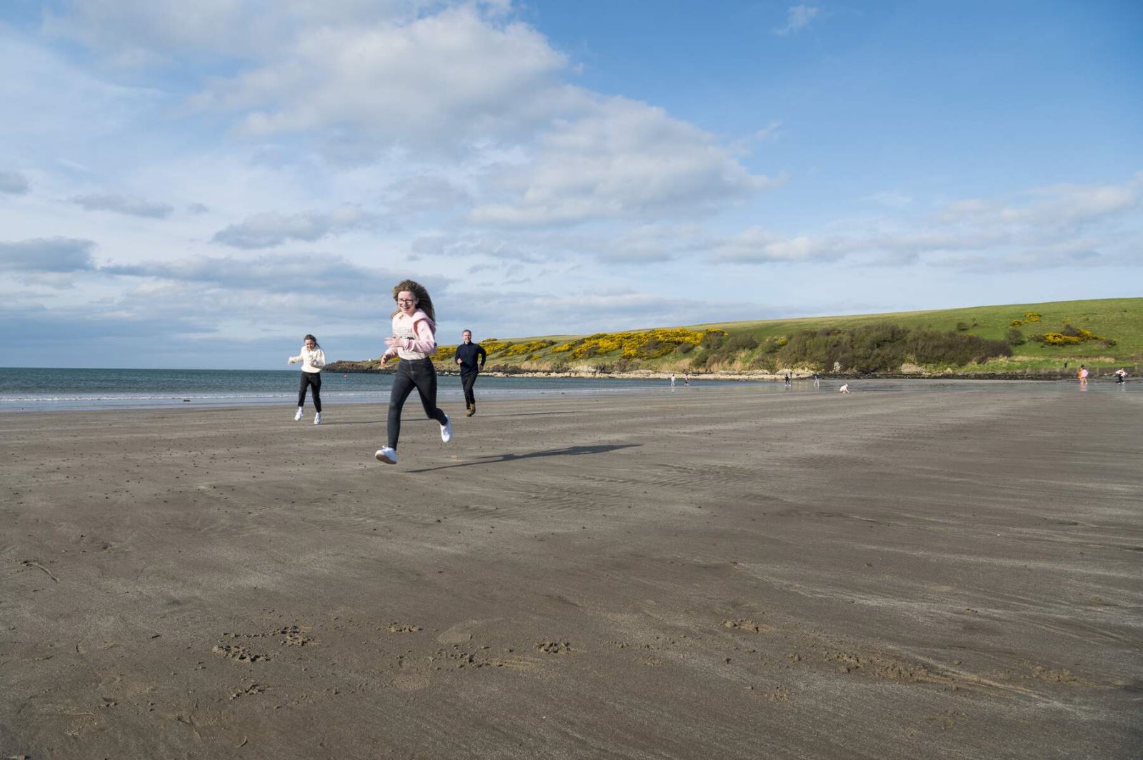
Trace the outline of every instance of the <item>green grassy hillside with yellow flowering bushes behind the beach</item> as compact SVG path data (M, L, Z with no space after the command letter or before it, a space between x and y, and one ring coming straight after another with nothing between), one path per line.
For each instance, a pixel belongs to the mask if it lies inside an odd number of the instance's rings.
M488 351L487 369L509 373L768 374L786 369L831 373L837 367L842 374L1050 375L1063 374L1064 362L1070 368L1086 363L1098 373L1120 366L1137 368L1143 362L1143 298L712 322L481 343ZM807 352L810 344L848 349ZM934 346L949 350L934 351ZM454 347L438 351L434 360L442 369L451 368ZM823 359L826 354L831 361ZM941 359L924 360L937 355ZM832 360L838 365L831 366ZM369 365L376 361L343 362L336 369Z

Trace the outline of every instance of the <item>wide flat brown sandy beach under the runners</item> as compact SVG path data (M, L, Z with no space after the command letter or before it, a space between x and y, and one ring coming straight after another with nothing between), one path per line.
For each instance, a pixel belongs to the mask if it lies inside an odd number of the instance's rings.
M5 415L0 757L1138 757L1096 391Z

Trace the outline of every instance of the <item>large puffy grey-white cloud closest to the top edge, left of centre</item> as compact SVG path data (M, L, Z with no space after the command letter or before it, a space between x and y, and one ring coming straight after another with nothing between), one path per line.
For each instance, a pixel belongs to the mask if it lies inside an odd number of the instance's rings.
M249 135L339 128L421 150L501 139L542 123L567 67L530 26L472 7L408 23L314 26L194 98Z

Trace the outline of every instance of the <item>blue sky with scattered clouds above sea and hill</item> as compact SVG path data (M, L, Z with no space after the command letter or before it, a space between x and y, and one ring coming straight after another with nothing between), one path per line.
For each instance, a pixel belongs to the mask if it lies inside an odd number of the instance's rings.
M1136 0L0 2L0 366L1138 296L1141 199Z

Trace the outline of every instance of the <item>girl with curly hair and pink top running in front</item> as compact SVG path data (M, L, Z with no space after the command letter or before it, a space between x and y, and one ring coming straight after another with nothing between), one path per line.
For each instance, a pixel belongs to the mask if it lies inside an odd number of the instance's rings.
M393 357L400 358L389 392L389 443L374 455L378 462L397 464L397 440L401 435L401 407L413 389L421 395L425 416L440 424L440 440L453 440L453 424L437 406L437 368L429 357L437 351L437 312L424 286L403 280L393 287L393 333L385 338L389 350L381 357L381 366Z

